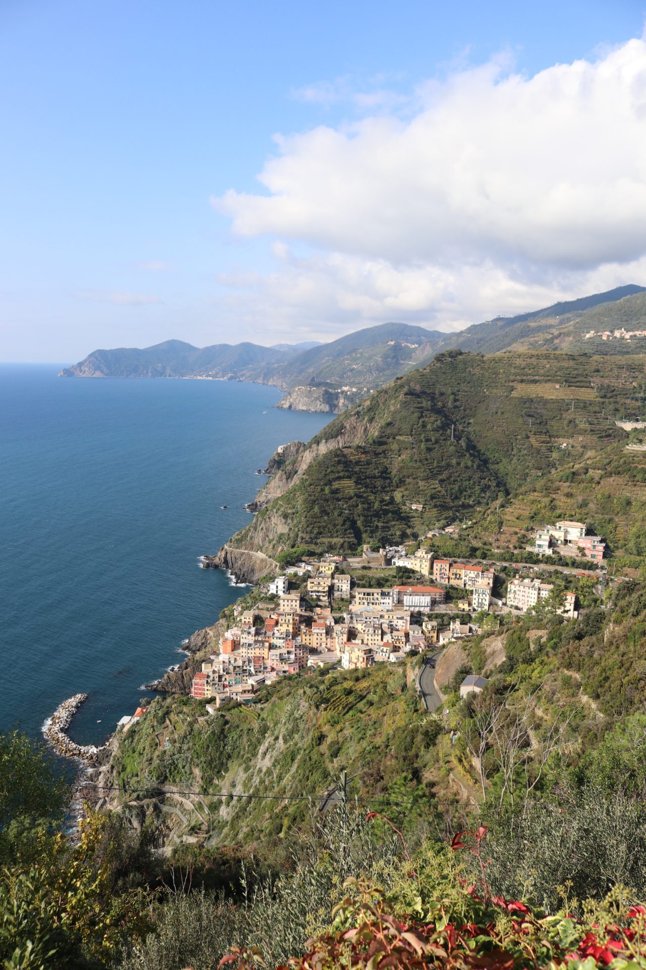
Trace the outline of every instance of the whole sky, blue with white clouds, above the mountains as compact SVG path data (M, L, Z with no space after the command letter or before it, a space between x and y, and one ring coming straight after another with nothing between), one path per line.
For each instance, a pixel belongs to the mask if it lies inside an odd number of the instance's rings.
M0 0L0 360L646 285L646 0Z

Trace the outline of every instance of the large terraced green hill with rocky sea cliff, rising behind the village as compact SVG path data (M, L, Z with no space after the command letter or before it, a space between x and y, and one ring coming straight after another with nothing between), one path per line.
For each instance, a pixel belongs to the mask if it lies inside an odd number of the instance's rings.
M448 351L327 425L232 539L268 554L425 533L628 440L646 358ZM413 506L421 506L421 509Z

